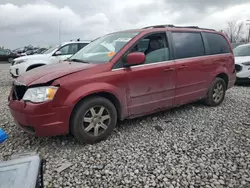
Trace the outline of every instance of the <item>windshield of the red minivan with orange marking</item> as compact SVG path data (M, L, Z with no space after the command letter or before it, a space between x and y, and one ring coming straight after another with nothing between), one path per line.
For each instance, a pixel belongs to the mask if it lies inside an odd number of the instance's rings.
M137 34L138 32L121 32L105 35L82 48L71 56L70 60L91 63L108 62Z

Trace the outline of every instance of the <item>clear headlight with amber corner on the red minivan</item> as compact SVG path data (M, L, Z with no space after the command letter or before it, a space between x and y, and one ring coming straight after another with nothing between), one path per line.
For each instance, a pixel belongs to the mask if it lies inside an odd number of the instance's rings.
M55 86L43 86L43 87L34 87L29 88L24 96L24 101L30 102L45 102L53 100L58 87Z

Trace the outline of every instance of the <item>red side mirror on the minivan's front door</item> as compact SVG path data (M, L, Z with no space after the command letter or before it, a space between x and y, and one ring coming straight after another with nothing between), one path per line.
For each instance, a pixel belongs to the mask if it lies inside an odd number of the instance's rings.
M146 60L146 56L142 52L132 52L127 55L124 59L124 65L126 67L130 67L133 65L139 65L144 63Z

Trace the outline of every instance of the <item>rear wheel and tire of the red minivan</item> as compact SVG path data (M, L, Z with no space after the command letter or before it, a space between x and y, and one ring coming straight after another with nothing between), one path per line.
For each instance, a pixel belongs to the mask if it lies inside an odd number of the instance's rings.
M225 98L226 89L225 81L217 77L208 90L205 104L213 107L220 105Z

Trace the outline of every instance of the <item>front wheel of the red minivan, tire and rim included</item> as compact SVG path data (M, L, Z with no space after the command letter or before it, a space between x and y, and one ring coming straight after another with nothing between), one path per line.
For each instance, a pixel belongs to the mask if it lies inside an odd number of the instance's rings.
M116 123L115 106L106 98L91 97L80 102L74 109L70 129L80 142L93 144L105 140L114 130Z

